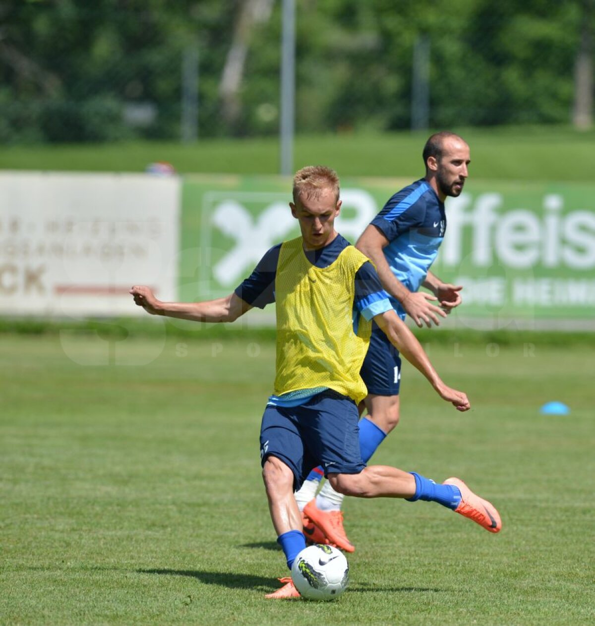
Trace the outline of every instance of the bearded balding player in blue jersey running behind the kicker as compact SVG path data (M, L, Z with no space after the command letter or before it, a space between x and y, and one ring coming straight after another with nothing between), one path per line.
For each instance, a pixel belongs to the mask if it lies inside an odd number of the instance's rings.
M423 148L425 177L396 192L362 233L356 247L376 266L393 309L422 327L461 303L462 287L445 283L430 272L447 225L445 199L458 197L468 176L469 146L460 136L432 135ZM420 292L426 287L433 295ZM361 376L368 387L367 416L360 423L364 461L399 421L401 359L385 333L373 325L370 349ZM355 549L343 527L343 495L326 483L316 495L322 468L313 469L296 500L304 515L304 532L318 543L325 539L347 552ZM314 498L316 496L316 498ZM322 533L321 533L322 531Z

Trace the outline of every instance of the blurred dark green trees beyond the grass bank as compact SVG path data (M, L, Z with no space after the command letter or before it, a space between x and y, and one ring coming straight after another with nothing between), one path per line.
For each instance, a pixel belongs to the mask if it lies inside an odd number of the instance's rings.
M297 0L298 133L592 119L593 0ZM0 142L279 131L282 0L0 2Z

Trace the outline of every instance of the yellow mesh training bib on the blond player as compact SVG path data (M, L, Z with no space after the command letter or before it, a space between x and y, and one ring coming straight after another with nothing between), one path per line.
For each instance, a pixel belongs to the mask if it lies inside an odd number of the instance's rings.
M354 277L368 259L349 245L328 267L306 258L301 237L284 242L275 279L276 396L329 387L356 403L368 391L360 376L371 322L353 331Z

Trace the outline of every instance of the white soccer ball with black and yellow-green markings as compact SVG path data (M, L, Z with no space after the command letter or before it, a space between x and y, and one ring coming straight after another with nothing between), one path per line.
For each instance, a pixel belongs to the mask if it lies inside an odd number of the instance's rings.
M306 600L334 600L347 588L349 565L337 548L315 543L297 555L291 578Z

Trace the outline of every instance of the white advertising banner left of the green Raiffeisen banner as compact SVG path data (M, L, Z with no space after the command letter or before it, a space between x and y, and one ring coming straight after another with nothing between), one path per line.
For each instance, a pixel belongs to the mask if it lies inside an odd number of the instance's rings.
M177 299L180 180L0 172L0 314L143 314L128 289Z

